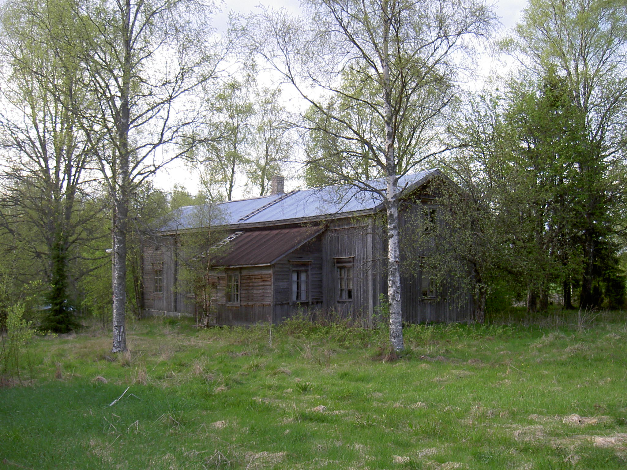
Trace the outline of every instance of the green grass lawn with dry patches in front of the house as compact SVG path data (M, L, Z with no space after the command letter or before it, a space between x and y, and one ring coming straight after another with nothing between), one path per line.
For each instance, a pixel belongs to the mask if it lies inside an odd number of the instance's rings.
M120 357L107 332L36 338L0 388L0 469L627 468L624 317L404 333L396 360L384 331L299 321L271 343L135 321Z

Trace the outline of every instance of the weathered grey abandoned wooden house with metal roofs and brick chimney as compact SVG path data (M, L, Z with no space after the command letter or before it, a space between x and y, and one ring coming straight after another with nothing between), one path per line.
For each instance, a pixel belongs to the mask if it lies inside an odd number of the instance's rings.
M426 170L399 179L401 197L413 201L401 211L401 226L409 212L434 204L429 182L439 175ZM372 184L384 187L384 180ZM384 212L376 193L341 186L284 192L282 177L273 179L269 196L223 202L210 211L182 207L144 246L144 312L198 318L202 309L215 325L279 323L298 313L372 325L387 291ZM180 247L186 234L209 227L222 241L214 253L195 254L211 256L211 270L201 277L211 295L203 303L181 279ZM472 316L472 302L453 305L429 273L403 274L401 288L408 323Z

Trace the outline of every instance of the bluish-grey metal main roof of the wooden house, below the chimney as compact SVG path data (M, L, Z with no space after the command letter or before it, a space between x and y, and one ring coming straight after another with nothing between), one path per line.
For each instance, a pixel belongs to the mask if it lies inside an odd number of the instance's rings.
M411 191L429 177L439 173L440 170L431 169L404 175L399 178L399 189ZM386 187L383 178L368 183L379 190ZM327 186L241 201L222 202L213 207L181 207L172 213L171 219L162 226L161 230L178 231L206 227L209 224L223 226L290 219L321 219L324 216L373 210L381 204L381 196L376 192L363 191L349 185Z

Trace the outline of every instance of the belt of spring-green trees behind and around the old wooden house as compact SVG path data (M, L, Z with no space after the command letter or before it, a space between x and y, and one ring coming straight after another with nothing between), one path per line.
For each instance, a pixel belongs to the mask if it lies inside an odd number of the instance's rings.
M416 235L438 255L419 261L482 315L624 307L623 2L532 0L501 33L474 0L320 1L212 26L216 13L188 0L3 4L3 325L16 305L56 332L113 320L124 350L155 224L268 194L285 169L303 187L442 169L462 191L441 189ZM480 80L487 54L508 71ZM174 160L199 174L198 194L155 187Z

